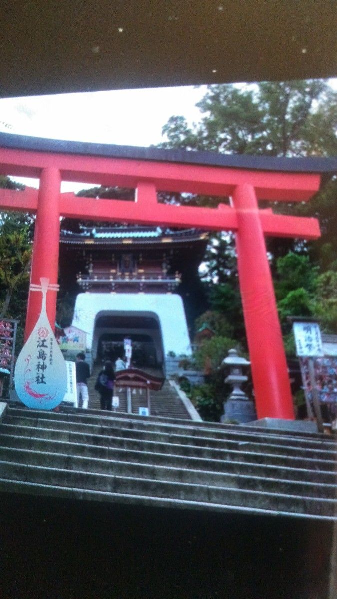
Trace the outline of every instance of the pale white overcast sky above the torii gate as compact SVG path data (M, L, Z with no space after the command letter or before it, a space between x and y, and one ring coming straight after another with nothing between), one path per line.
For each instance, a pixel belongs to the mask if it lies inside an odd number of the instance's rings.
M337 89L337 79L330 83ZM200 112L195 103L205 92L206 86L161 87L5 98L0 99L0 131L62 140L150 146L162 140L161 129L173 114L182 114L189 123L197 122ZM34 181L29 180L28 184ZM37 180L35 186L38 186ZM83 187L62 183L63 191Z

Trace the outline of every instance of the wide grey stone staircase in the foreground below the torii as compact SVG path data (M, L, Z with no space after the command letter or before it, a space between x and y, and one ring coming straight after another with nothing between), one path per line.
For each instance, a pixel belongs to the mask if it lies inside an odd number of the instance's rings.
M319 434L10 404L0 491L331 520L335 451Z

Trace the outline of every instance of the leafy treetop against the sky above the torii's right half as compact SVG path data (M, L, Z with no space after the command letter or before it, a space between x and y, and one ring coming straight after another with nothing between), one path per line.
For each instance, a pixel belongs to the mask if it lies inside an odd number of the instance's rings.
M323 80L213 85L198 102L204 117L188 126L172 116L161 147L265 156L332 156L337 93Z

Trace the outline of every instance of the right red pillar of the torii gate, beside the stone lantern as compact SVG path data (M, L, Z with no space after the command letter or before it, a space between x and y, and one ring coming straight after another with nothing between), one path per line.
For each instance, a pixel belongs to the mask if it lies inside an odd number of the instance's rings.
M254 187L235 188L237 269L258 418L294 418L287 362Z

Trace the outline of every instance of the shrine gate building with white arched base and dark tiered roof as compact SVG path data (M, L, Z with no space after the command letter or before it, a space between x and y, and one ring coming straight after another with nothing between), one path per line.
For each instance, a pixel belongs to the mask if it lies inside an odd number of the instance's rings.
M160 226L80 226L62 223L60 269L67 287L82 289L73 326L86 331L95 359L123 356L133 340L133 364L163 367L169 352L189 355L191 344L177 288L197 279L208 235ZM186 283L185 283L186 286ZM126 295L127 294L127 295Z

